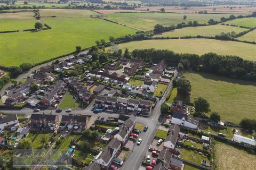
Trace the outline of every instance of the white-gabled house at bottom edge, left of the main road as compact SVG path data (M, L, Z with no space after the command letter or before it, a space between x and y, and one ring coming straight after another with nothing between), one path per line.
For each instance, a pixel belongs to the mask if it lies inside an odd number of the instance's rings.
M113 139L97 156L95 156L94 161L101 165L102 168L108 169L120 149L121 142L117 139Z

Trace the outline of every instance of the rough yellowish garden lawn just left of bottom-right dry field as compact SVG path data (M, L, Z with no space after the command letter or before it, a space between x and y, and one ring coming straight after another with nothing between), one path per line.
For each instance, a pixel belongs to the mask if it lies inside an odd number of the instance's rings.
M194 152L194 150L190 150L186 148L180 149L180 155L182 159L189 160L199 165L201 165L202 159L205 159L208 163L210 162L206 156L199 155L198 153Z

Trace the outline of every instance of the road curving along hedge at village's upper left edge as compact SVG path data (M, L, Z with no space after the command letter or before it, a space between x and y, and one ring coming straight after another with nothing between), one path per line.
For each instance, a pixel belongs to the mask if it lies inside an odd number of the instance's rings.
M88 50L85 50L84 52L89 52L89 51L88 51ZM67 58L70 57L70 56L73 56L73 55L68 55L68 56L66 56L66 57L58 58L58 59L56 59L56 60L65 60L65 59L67 59ZM23 78L27 78L28 75L29 75L31 72L34 72L35 70L40 69L40 67L42 67L42 66L50 65L50 64L52 64L52 62L54 62L54 61L55 61L55 60L50 61L50 62L47 62L47 63L44 63L44 64L41 64L41 65L37 65L37 66L31 68L29 71L20 74L15 80L16 80L16 81L21 81ZM0 96L3 96L5 90L6 90L8 87L10 87L11 85L12 85L11 82L5 84L5 86L0 90Z

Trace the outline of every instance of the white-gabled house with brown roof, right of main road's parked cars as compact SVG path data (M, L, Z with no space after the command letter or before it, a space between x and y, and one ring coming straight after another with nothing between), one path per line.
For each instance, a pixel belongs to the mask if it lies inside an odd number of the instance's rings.
M172 124L169 129L169 133L164 140L164 149L169 149L173 154L175 153L175 145L178 141L180 133L180 127L176 124Z

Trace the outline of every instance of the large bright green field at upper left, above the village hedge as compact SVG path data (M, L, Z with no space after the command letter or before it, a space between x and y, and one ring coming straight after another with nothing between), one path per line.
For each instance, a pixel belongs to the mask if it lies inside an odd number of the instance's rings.
M38 63L95 44L95 40L133 34L135 30L102 19L44 18L52 29L0 34L1 65Z

